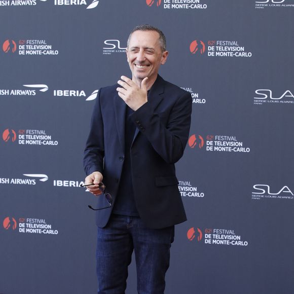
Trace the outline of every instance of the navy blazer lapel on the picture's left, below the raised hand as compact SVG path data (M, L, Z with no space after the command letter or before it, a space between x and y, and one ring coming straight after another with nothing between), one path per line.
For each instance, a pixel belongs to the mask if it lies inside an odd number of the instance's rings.
M125 120L126 120L127 104L118 94L116 94L114 96L114 105L115 105L115 115L116 115L116 125L117 125L118 136L120 139L122 150L125 153Z

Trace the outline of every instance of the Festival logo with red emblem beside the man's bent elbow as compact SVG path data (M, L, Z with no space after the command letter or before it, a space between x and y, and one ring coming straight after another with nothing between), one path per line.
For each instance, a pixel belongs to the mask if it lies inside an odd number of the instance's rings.
M250 152L250 148L244 146L244 143L238 141L237 137L233 135L207 135L205 141L203 136L193 134L190 136L188 144L192 149L195 149L198 144L199 149L207 152ZM205 148L203 148L204 146Z

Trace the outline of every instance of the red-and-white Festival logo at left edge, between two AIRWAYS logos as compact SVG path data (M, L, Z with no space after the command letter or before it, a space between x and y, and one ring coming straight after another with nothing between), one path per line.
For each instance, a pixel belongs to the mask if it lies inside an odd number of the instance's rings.
M19 145L58 145L58 141L47 135L45 130L18 130L17 138L14 130L6 129L2 138L5 142L12 141Z

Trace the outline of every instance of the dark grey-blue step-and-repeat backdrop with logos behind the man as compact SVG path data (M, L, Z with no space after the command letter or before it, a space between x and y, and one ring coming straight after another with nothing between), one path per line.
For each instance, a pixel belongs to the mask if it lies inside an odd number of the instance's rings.
M193 99L166 293L292 293L293 0L1 0L0 293L96 292L83 149L144 23Z

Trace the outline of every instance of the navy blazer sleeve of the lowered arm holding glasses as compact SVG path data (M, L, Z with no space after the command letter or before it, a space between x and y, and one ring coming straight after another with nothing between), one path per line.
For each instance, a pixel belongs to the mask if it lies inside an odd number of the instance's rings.
M93 114L90 124L90 133L86 142L84 151L84 169L86 175L94 171L103 171L103 158L104 158L104 134L103 134L103 119L100 106L100 93L95 101Z

